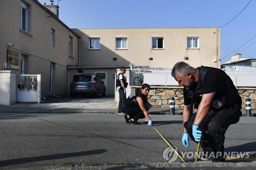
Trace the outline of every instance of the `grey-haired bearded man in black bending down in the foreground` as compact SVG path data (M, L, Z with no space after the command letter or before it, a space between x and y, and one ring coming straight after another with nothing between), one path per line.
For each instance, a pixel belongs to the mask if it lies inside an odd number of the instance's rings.
M178 62L172 76L184 86L183 145L189 146L188 136L196 142L201 140L201 156L224 162L225 132L242 115L237 88L223 70L214 67L194 68ZM194 114L193 105L197 109Z

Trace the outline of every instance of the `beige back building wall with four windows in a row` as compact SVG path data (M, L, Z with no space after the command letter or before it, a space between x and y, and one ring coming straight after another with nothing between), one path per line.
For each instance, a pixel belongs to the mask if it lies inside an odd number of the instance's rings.
M220 28L74 29L81 38L83 66L172 68L178 61L195 67L220 68ZM127 38L127 49L116 49L116 38ZM163 49L152 48L152 38L163 38ZM187 37L198 37L199 48L187 48ZM100 50L89 49L89 38L100 38ZM188 60L185 60L185 57ZM114 60L116 58L116 60ZM153 60L149 60L153 58Z

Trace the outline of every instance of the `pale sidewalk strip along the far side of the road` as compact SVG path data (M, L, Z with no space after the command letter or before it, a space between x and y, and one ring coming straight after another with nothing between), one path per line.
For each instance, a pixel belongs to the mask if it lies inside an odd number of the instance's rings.
M99 98L70 98L69 96L49 96L41 103L16 103L10 106L0 105L0 113L111 113L117 114L117 102L114 96ZM182 109L175 110L175 114L181 115ZM150 114L170 114L170 109L155 109ZM242 110L242 116L246 116L246 110ZM256 116L256 110L251 110L251 115Z

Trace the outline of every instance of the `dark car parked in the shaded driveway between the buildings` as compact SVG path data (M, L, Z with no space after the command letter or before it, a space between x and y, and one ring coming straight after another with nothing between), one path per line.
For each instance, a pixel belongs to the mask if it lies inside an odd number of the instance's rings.
M106 87L104 82L95 74L83 74L73 76L73 80L70 85L71 98L75 98L76 95L106 95Z

